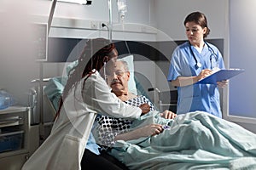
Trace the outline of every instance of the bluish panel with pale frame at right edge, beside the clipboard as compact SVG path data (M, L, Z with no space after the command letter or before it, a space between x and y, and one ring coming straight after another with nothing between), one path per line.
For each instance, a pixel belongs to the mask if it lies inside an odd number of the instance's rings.
M227 118L256 133L255 29L256 2L230 1L230 67L245 72L230 79ZM239 20L237 20L239 18Z

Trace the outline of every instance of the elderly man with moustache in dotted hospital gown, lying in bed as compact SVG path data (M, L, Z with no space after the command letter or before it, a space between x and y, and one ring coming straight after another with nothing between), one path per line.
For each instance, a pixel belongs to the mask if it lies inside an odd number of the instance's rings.
M108 71L108 73L108 85L112 88L112 92L116 94L119 99L129 105L141 107L145 112L154 111L154 105L145 96L137 96L128 92L130 71L125 61L116 61L115 66L111 66L111 71ZM165 118L174 118L176 114L172 111L164 111L160 116ZM100 125L96 129L97 142L103 146L112 146L114 141L120 139L138 139L140 137L159 134L163 131L162 125L156 123L145 125L134 131L129 131L132 123L131 120L113 118L109 116L99 116L97 117L96 122Z

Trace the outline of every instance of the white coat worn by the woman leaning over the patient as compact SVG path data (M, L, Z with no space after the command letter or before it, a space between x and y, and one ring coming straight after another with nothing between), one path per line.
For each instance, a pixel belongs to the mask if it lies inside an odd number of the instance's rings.
M96 113L131 118L141 115L139 108L126 105L112 94L98 72L86 80L84 89L81 88L83 82L84 79L64 100L49 137L22 170L79 170Z

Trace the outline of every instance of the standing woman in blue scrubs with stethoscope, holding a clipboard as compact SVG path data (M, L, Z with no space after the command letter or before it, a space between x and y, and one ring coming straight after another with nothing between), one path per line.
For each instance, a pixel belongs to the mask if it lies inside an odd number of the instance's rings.
M167 77L177 87L177 114L207 111L222 117L218 87L223 88L228 82L196 84L212 71L224 69L218 48L204 40L210 32L207 18L201 12L191 13L184 20L184 26L189 41L174 50Z

